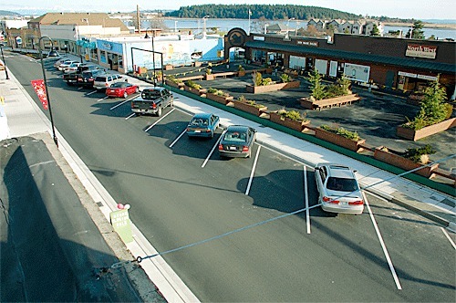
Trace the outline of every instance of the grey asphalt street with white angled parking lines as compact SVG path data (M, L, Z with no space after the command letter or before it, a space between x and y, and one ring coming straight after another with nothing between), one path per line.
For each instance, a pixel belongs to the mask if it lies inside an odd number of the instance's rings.
M15 56L8 68L39 104L39 63ZM191 118L179 108L131 117L129 102L59 76L49 68L58 131L160 252L316 204L313 169L285 154L256 144L250 159L220 159L221 130L176 141ZM202 301L454 301L446 231L367 197L361 215L315 208L163 257Z

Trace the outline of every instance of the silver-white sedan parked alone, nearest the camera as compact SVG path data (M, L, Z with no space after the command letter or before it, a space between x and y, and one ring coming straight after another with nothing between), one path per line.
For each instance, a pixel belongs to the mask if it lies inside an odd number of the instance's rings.
M343 164L319 163L315 176L318 203L324 211L362 214L364 199L355 171Z

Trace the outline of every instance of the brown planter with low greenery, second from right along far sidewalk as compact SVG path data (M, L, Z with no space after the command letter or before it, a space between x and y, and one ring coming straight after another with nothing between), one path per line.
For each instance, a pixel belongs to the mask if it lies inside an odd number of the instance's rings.
M329 125L321 125L316 128L316 138L334 143L345 147L350 151L363 151L361 144L366 140L361 139L357 131L347 131L343 127L330 127Z

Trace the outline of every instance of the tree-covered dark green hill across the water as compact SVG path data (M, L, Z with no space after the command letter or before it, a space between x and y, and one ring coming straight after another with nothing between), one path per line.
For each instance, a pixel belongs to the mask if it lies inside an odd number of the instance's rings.
M300 20L311 18L353 20L362 17L335 9L305 5L192 5L182 6L177 11L167 13L166 16L180 18L211 16L211 18L248 19L249 10L252 12L251 18L264 18L267 20L292 17Z

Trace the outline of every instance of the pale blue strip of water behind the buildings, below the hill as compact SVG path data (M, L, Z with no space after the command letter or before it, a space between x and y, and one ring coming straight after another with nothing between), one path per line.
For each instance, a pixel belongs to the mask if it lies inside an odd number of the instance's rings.
M177 22L175 22L177 21ZM440 24L450 24L456 23L456 20L425 20L426 22L432 23L440 23ZM266 21L258 22L258 20L251 20L251 32L252 33L259 33L264 32L264 24L268 25L275 25L281 24L283 26L289 26L290 29L304 27L306 28L306 22L304 21L295 21L292 20L290 22L286 20L275 20L275 21ZM177 30L180 29L191 29L194 34L198 34L202 32L203 22L202 19L192 19L192 18L167 18L164 19L164 24L167 26L171 31L176 28ZM150 21L144 20L141 23L141 26L147 28L150 26ZM241 27L248 33L249 28L249 21L248 19L213 19L208 18L206 19L206 28L217 27L220 31L228 32L233 27ZM389 31L397 31L402 30L402 32L407 34L409 31L409 27L405 26L384 26L384 33L388 33ZM452 38L456 40L456 30L455 29L448 29L448 28L423 28L424 36L430 37L434 35L434 37L438 37L439 39L444 38Z

